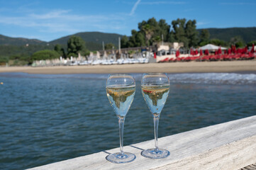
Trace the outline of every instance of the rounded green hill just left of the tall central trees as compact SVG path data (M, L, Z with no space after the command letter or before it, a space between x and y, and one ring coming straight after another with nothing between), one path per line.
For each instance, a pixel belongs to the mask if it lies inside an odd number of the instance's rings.
M118 37L122 38L123 35L116 34L116 33L100 33L100 32L84 32L84 33L76 33L73 34L76 36L81 37L85 42L87 42L87 46L93 46L93 45L101 45L102 48L102 42L104 43L113 43L113 45L118 46ZM65 37L59 38L57 40L52 40L49 43L50 44L67 44L67 40L72 35L67 35ZM91 43L91 45L89 45Z

